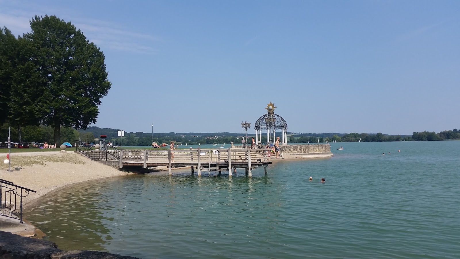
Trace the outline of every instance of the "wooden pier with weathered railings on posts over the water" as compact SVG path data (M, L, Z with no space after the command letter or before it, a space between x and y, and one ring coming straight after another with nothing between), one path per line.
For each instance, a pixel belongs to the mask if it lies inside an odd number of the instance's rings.
M102 152L102 151L101 151ZM267 166L271 164L270 156L266 149L168 149L158 150L119 150L119 167L142 166L143 168L155 166L168 166L169 174L177 167L191 166L191 173L202 170L221 173L228 171L229 177L236 168L245 168L246 174L252 177L254 168L263 166L267 173Z

